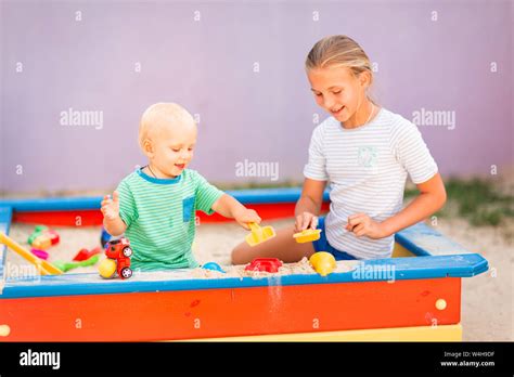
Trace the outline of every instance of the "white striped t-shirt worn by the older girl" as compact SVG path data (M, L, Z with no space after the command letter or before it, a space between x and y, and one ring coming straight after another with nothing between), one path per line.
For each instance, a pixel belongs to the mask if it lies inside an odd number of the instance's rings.
M306 178L329 181L325 236L340 251L359 259L389 258L394 236L357 237L345 229L348 217L363 212L377 222L402 208L407 174L423 183L437 173L416 126L381 108L369 123L345 129L334 117L312 132Z

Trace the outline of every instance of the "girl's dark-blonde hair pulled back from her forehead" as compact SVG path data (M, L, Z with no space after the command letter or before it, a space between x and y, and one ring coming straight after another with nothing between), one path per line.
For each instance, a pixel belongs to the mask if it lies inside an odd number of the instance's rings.
M370 87L373 83L370 58L359 43L350 37L325 37L312 47L305 61L306 70L327 67L347 67L356 77L368 72L371 79Z

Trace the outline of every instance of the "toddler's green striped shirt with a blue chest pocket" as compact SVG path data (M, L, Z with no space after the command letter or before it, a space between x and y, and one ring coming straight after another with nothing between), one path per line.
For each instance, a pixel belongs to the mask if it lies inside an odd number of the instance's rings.
M195 211L211 214L223 192L190 169L175 179L152 178L138 169L119 183L117 191L119 216L127 224L125 236L133 250L133 270L198 265L191 250Z

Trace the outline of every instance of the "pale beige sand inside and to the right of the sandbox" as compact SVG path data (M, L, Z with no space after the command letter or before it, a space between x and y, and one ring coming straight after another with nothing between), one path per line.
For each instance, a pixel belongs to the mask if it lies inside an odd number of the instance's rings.
M271 221L267 224L280 229L291 222L292 220L288 219ZM33 229L33 225L13 224L10 234L28 247L26 238ZM510 230L513 227L511 224L498 227L472 227L462 219L439 219L436 229L470 251L483 255L491 266L487 273L472 278L463 278L462 325L464 340L513 340L514 253L512 252L513 236ZM51 262L70 261L80 248L91 249L100 244L99 226L55 227L55 230L61 235L61 243L49 250L49 261ZM197 227L194 245L195 257L201 264L219 263L228 272L224 275L227 277L266 276L267 273L249 273L244 271L244 266L230 265L230 250L244 239L246 234L247 231L235 223L201 224ZM34 269L14 252L8 252L5 271L10 276L34 273ZM79 268L72 272L97 272L97 268ZM298 263L285 264L281 268L279 275L291 273L314 272L307 259L304 259ZM219 272L202 269L194 270L193 274L198 278L221 276Z

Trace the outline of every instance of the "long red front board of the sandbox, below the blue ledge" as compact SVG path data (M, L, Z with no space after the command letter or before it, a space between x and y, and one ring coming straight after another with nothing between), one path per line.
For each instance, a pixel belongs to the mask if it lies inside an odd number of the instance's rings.
M7 341L130 341L460 323L457 277L0 299ZM437 299L447 308L437 310Z

